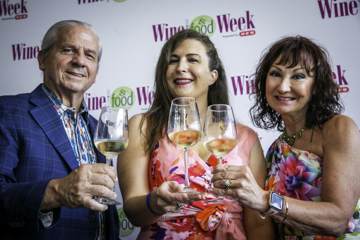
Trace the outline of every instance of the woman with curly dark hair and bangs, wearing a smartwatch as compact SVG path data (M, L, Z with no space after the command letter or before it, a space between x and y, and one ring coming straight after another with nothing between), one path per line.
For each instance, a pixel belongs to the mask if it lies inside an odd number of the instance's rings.
M265 190L247 167L227 165L214 169L212 191L270 216L284 239L359 239L360 134L341 115L327 50L306 37L284 37L252 77L253 123L283 132L266 155Z

